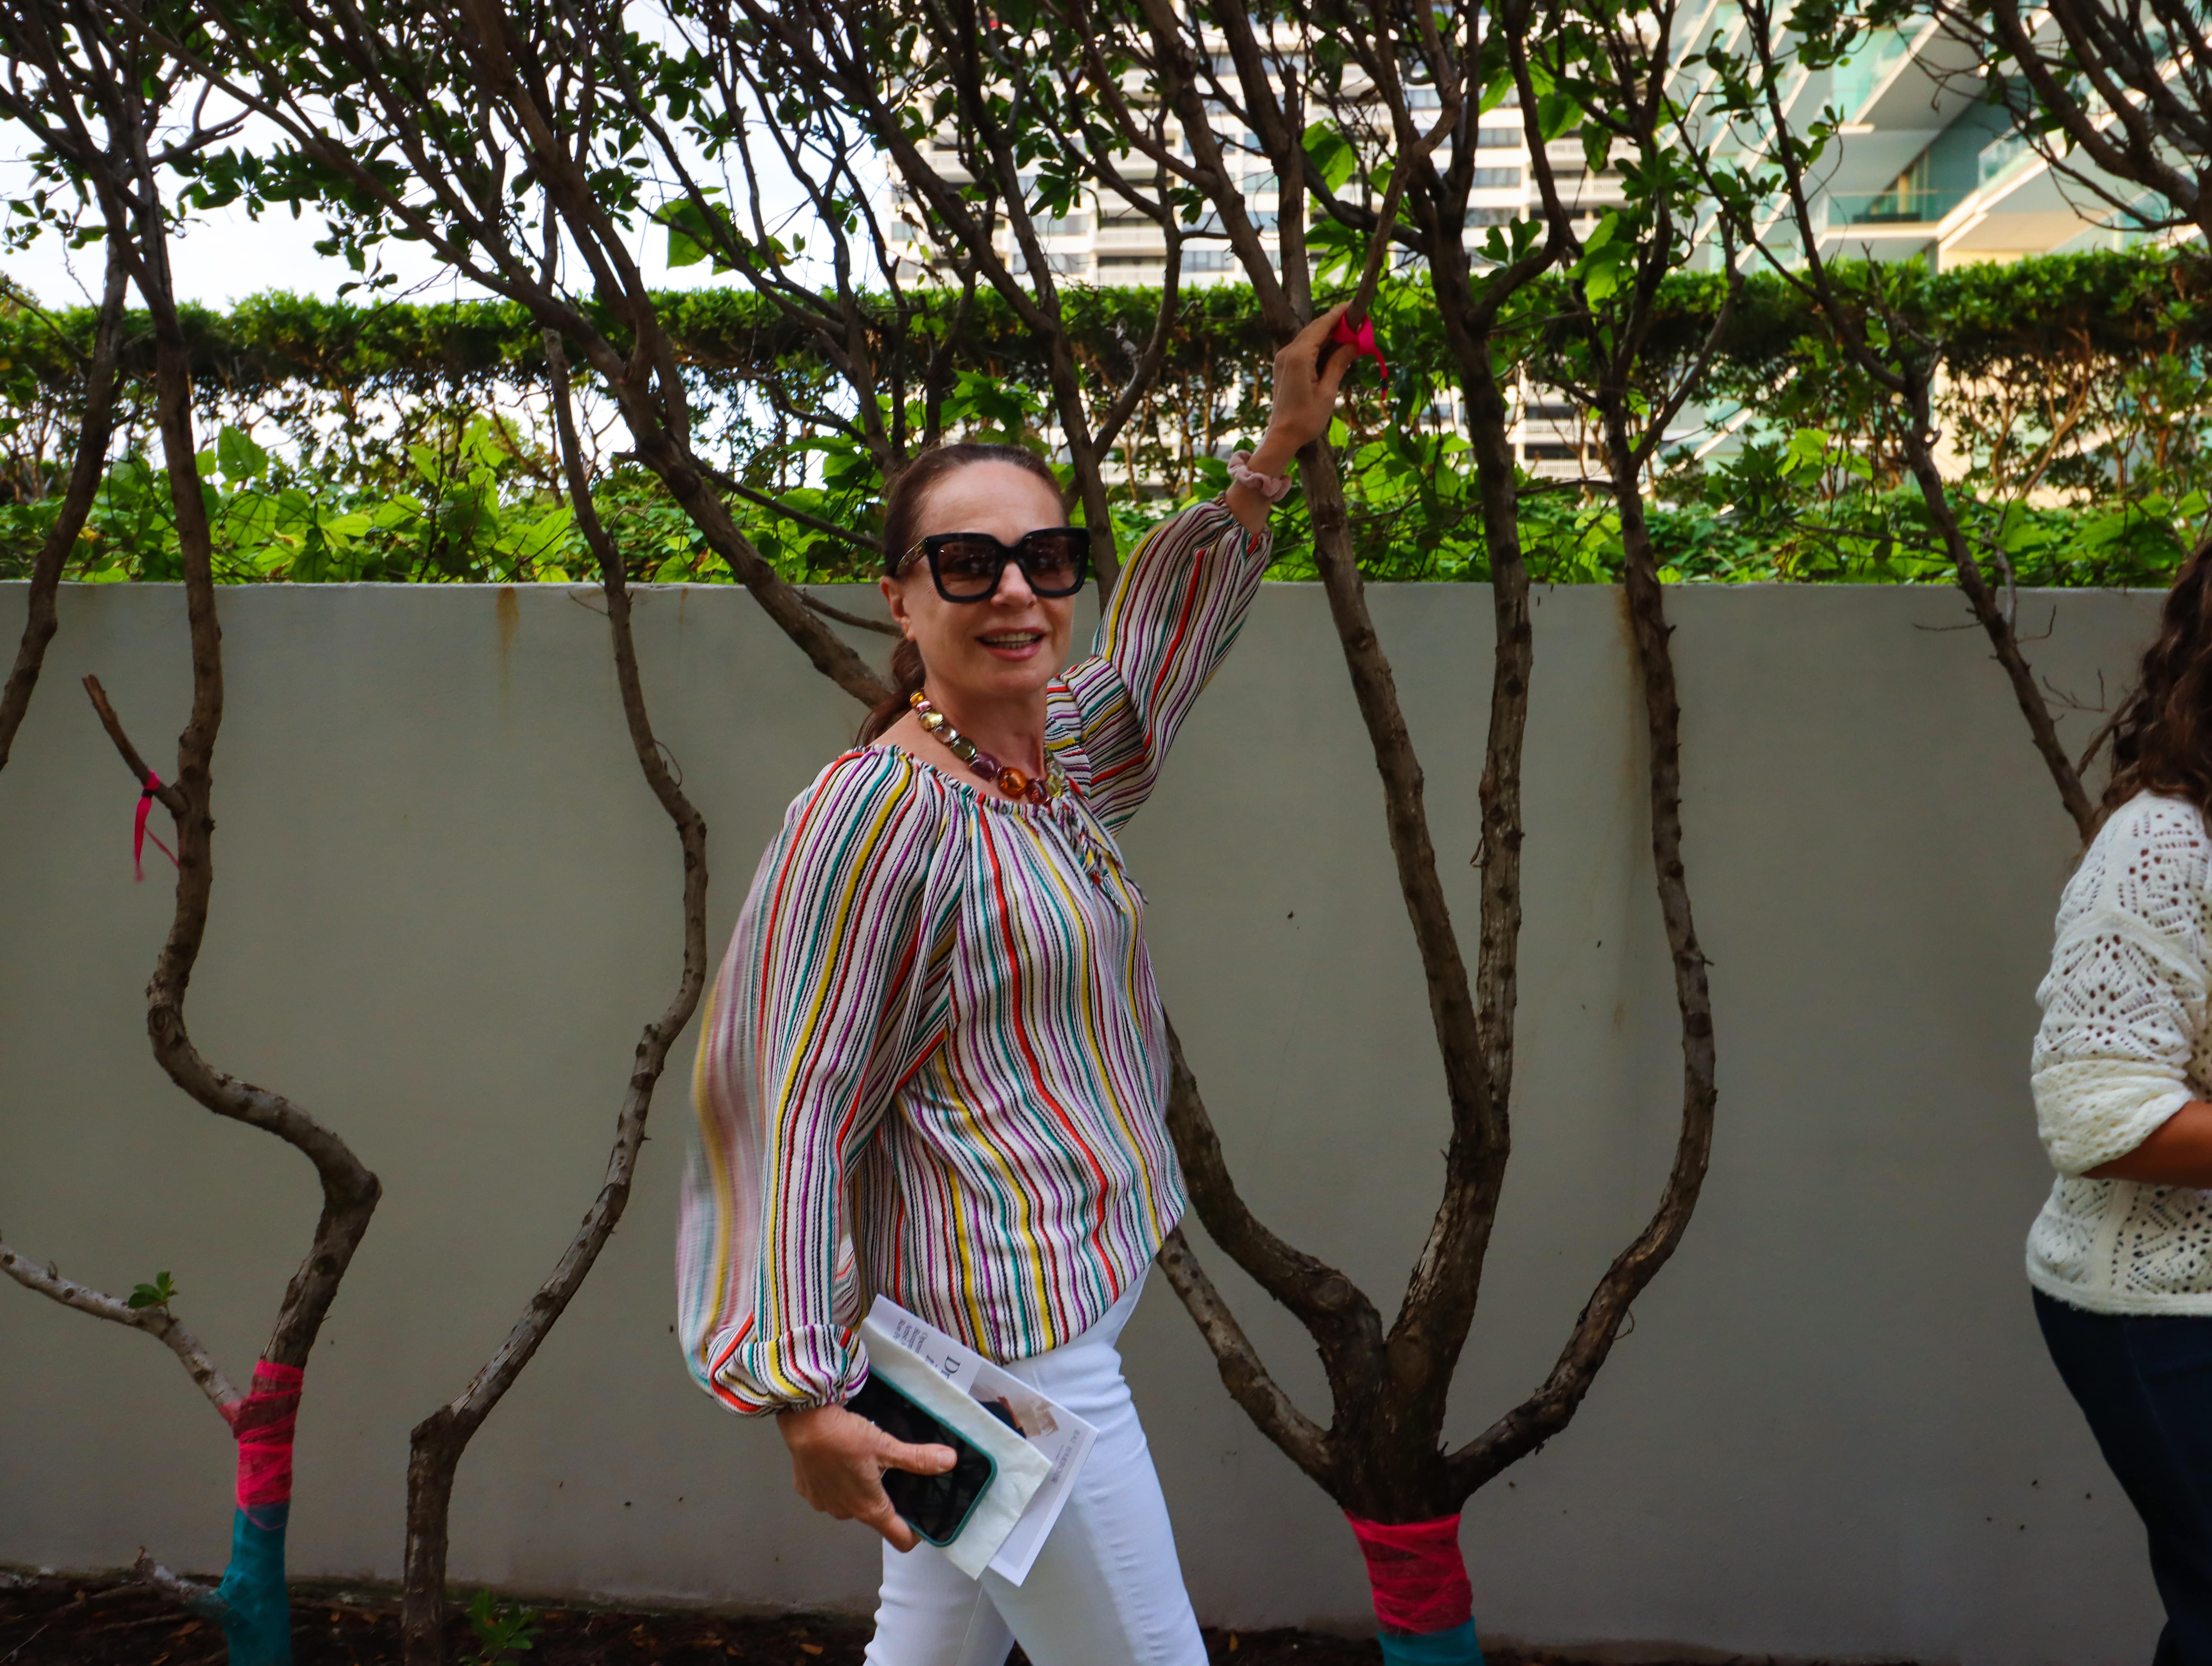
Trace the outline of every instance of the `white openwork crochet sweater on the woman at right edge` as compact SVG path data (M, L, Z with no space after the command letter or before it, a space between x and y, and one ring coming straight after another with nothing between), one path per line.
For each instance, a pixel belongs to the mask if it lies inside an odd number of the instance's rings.
M2059 1170L2028 1232L2028 1281L2110 1314L2212 1314L2212 1190L2084 1179L2190 1100L2212 1100L2212 836L2143 792L2059 900L2035 998L2035 1120Z

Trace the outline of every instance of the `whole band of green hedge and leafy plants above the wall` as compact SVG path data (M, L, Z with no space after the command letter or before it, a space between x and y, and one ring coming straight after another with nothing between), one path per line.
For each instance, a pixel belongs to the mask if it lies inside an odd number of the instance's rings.
M1557 312L1531 292L1506 334L1544 381ZM1082 358L1110 389L1148 330L1150 290L1073 288ZM2208 531L2205 383L2212 272L2190 254L2073 254L1916 272L1905 316L1944 363L1947 473L1978 544L2020 584L2161 584ZM1657 394L1690 367L1721 281L1679 274L1646 352ZM830 527L876 527L880 476L834 407L836 378L750 290L661 296L701 429L730 480ZM936 316L949 323L949 299ZM1356 376L1334 440L1363 566L1378 580L1482 580L1486 553L1433 303L1376 303L1391 381ZM232 582L535 582L591 562L562 500L538 400L542 350L504 303L347 305L265 294L192 310L206 498ZM0 296L0 577L20 577L53 513L91 310ZM927 345L929 332L922 332ZM1168 363L1115 491L1128 538L1225 485L1217 460L1263 420L1274 343L1241 285L1186 292ZM960 330L945 414L956 431L1042 445L1044 365L991 294ZM148 345L133 321L119 456L71 560L75 580L175 577L168 485L148 462ZM1668 577L1683 582L1944 582L1889 400L1843 367L1803 299L1752 279L1699 385L1701 427L1650 478ZM1703 451L1703 456L1699 456ZM1597 473L1595 456L1588 473ZM597 502L639 582L723 582L659 485L602 456ZM759 502L732 509L796 582L865 577L872 551ZM1601 489L1526 478L1522 535L1546 582L1610 582L1617 522ZM1276 577L1310 575L1296 502Z

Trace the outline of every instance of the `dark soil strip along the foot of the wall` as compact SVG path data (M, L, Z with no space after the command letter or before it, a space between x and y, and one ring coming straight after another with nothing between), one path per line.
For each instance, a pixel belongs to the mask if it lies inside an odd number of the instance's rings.
M538 1608L529 1653L509 1666L860 1666L869 1626L832 1615ZM456 1617L451 1657L473 1662L478 1637ZM0 1573L0 1666L223 1666L223 1633L168 1597L115 1580ZM1206 1653L1230 1666L1380 1666L1371 1637L1312 1631L1208 1631ZM1491 1666L1568 1666L1571 1657L1486 1648ZM398 1666L398 1606L389 1591L292 1586L294 1666ZM1024 1666L1020 1651L1013 1666ZM1732 1666L1708 1655L1699 1666ZM1734 1664L1750 1666L1750 1662Z

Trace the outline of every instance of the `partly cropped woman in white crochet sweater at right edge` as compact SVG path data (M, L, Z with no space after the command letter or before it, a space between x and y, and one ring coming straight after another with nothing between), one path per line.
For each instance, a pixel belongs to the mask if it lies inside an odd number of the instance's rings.
M2035 1314L2150 1533L2157 1666L2212 1666L2212 544L2112 726L2104 827L2059 903L2035 1115L2057 1184Z

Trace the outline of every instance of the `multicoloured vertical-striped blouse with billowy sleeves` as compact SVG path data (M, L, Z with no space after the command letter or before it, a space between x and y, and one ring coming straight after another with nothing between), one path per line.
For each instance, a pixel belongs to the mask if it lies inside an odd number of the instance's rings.
M1183 1212L1144 894L1115 830L1259 593L1219 502L1152 531L1046 690L1073 792L878 743L799 794L708 998L677 1310L737 1412L834 1405L883 1292L978 1352L1088 1330Z

